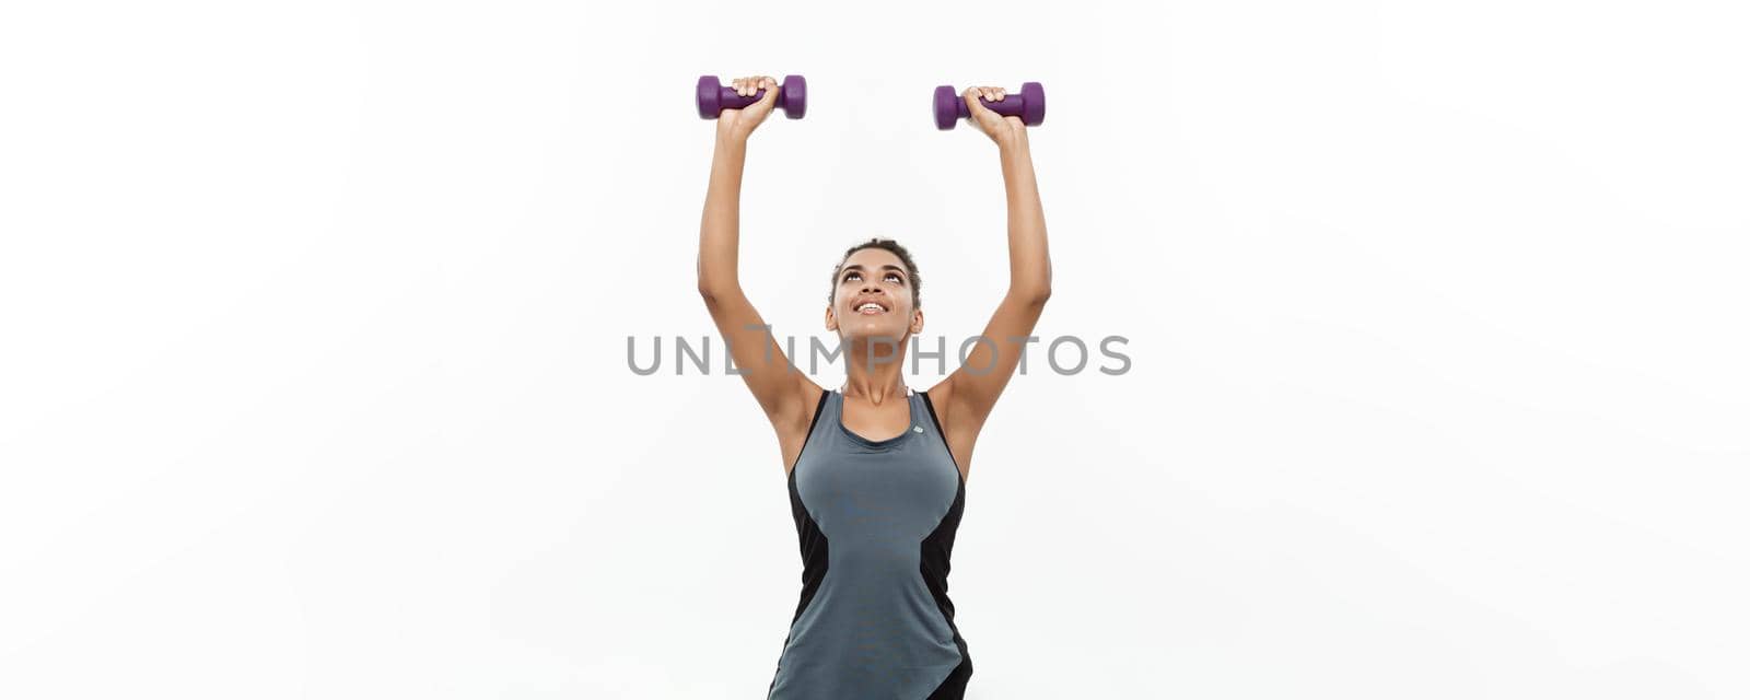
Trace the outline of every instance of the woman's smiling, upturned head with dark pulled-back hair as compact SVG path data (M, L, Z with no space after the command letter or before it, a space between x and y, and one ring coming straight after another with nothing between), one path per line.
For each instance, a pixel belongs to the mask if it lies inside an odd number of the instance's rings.
M873 306L870 306L873 304ZM924 312L912 306L912 276L900 256L863 248L838 268L826 329L842 340L891 338L900 341L924 329Z

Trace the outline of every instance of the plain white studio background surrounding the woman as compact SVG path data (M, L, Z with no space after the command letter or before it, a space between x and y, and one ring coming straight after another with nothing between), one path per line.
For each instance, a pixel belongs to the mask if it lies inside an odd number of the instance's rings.
M1038 334L1132 366L1032 364L980 438L968 698L1746 696L1746 30L7 4L0 696L763 696L802 569L777 441L721 345L672 359L716 332L700 74L808 79L742 200L798 338L868 236L917 254L928 338L978 332L998 154L929 93L1050 94Z

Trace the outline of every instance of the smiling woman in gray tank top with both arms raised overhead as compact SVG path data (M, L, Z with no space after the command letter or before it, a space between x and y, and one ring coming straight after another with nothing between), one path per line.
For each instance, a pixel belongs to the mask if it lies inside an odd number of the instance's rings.
M872 240L833 270L826 329L838 332L847 378L826 390L784 359L737 280L747 136L772 112L777 80L733 86L766 93L718 116L698 292L777 432L802 544L802 600L768 700L962 698L973 663L947 576L973 443L1052 296L1026 126L978 102L1003 100L1001 88L961 94L1008 186L1008 294L984 340L948 378L908 390L900 369L924 329L922 284L903 247Z

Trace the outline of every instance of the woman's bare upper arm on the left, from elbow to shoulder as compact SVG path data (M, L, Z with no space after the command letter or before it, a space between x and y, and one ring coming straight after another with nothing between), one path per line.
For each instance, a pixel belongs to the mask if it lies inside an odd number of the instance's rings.
M807 401L817 397L821 388L808 374L791 366L740 285L702 289L700 296L718 326L718 334L728 343L726 352L735 360L735 371L742 373L742 382L766 418L777 427L805 420L805 413L814 408Z

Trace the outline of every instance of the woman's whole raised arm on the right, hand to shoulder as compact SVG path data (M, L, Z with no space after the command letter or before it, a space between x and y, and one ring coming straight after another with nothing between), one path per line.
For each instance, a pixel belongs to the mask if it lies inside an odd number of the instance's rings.
M943 429L950 441L973 443L978 429L996 406L1020 364L1026 338L1052 298L1052 259L1045 245L1045 206L1032 177L1032 152L1020 117L1003 117L985 108L978 98L1001 100L1001 88L968 88L962 100L973 121L998 145L1003 184L1008 196L1008 292L998 304L984 334L948 378L929 392L943 410Z

